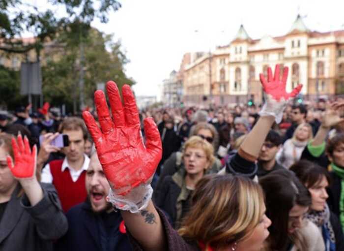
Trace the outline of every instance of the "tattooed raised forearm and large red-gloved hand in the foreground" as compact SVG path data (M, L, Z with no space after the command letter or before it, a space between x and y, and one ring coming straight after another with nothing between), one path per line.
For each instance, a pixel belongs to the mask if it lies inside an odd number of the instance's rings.
M143 250L167 250L163 224L151 202L150 182L162 156L159 131L153 119L146 118L144 145L130 87L122 88L123 105L116 84L109 81L106 88L112 118L100 90L94 94L100 128L89 112L83 117L111 186L109 201L121 210L127 230Z

